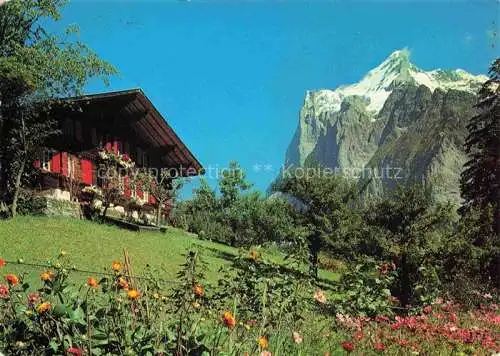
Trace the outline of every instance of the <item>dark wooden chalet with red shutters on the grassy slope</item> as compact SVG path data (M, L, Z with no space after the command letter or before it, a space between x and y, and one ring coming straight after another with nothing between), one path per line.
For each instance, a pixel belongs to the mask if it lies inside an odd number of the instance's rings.
M70 98L51 116L62 134L35 159L38 190L50 198L78 200L78 187L100 186L99 152L126 154L135 168L169 169L178 176L203 174L203 167L141 89ZM155 205L147 191L132 188L123 177L123 200L136 198Z

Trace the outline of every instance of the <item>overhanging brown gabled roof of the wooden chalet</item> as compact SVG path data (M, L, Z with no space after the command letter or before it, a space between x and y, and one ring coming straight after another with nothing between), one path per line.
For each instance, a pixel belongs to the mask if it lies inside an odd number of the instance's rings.
M83 95L67 100L82 107L98 105L99 108L114 108L120 119L128 120L140 139L148 142L154 154L161 157L165 167L182 168L182 176L204 173L201 163L141 89Z

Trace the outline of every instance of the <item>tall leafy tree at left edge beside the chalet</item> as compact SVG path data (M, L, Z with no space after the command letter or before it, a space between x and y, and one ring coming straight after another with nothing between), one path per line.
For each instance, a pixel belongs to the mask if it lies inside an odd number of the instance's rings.
M77 38L51 33L66 0L10 1L0 6L0 192L16 215L22 176L33 154L58 132L47 113L63 97L82 93L90 78L116 70Z

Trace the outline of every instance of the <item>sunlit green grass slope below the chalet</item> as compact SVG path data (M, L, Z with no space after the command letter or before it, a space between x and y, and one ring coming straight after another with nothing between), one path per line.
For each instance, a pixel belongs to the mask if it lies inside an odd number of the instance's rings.
M216 281L219 269L229 264L238 250L226 245L204 241L183 230L169 228L167 233L131 232L114 226L84 220L29 217L0 221L0 258L7 261L45 264L56 257L61 249L80 270L110 271L111 262L123 260L123 249L128 250L134 272L144 273L146 265L158 270L162 279L173 280L184 263L183 254L192 248L202 253L207 266L207 279ZM261 253L276 263L283 262L283 255L261 249ZM38 281L43 269L29 267L29 281ZM27 266L7 264L3 273L26 271ZM72 272L73 278L86 280L89 273ZM337 280L338 275L320 271L323 279Z

